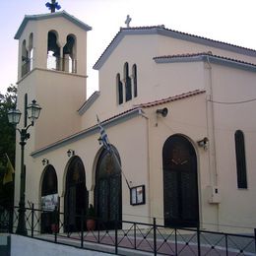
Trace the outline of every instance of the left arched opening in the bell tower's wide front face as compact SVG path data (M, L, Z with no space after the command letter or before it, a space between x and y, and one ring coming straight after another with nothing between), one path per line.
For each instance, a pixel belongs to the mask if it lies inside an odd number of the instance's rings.
M48 32L47 69L61 70L58 33L54 31Z

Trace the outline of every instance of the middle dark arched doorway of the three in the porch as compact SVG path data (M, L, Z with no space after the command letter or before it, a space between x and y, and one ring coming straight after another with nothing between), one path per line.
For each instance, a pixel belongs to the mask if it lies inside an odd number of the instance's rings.
M64 229L81 229L81 215L87 213L88 191L85 167L79 157L74 157L67 170L64 202Z

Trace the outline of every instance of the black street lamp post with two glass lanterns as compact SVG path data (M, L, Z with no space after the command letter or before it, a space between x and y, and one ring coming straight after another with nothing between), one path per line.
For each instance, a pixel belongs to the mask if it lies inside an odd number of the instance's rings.
M31 124L24 127L23 129L17 128L21 136L21 184L20 184L20 202L19 202L19 219L16 233L27 235L27 227L25 221L25 184L26 184L26 170L24 165L24 148L28 139L30 139L30 133L28 130L31 126L33 126L34 121L39 117L41 107L36 103L35 100L32 100L32 103L27 106L26 105L26 116L31 120ZM19 109L11 109L8 111L8 120L9 123L17 125L21 119L21 111ZM27 122L26 122L27 123Z

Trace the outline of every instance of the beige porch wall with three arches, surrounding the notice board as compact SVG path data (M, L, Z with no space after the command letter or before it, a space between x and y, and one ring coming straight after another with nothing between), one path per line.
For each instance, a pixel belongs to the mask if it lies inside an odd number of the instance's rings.
M122 175L122 213L123 220L149 221L149 179L148 168L149 158L147 151L146 120L141 117L134 117L125 123L107 129L111 144L117 149L122 163L122 171L131 186L146 185L147 204L133 207L130 205L129 188ZM99 133L90 135L77 142L71 142L68 146L59 147L54 151L30 160L30 167L27 170L27 187L35 193L28 193L29 201L40 205L40 189L44 166L42 159L49 160L56 170L58 178L58 194L61 197L61 211L64 211L65 178L70 159L67 157L69 149L75 150L76 156L84 163L86 171L87 189L90 191L90 202L94 202L94 188L96 184L96 161L102 150L98 145ZM127 140L129 143L127 143ZM136 149L136 150L135 150ZM145 218L147 217L147 218Z

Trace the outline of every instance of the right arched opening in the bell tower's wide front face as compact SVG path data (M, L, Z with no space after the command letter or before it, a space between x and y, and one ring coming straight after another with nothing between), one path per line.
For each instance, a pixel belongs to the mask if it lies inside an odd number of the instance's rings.
M63 70L69 73L77 72L77 40L74 34L67 36L67 42L63 47Z

